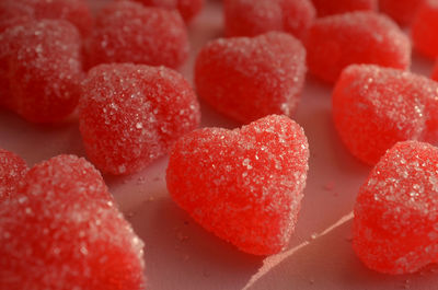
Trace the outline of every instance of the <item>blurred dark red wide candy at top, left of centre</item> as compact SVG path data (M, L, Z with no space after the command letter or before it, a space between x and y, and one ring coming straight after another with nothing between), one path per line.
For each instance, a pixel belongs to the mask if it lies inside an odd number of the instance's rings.
M88 65L134 62L180 67L188 56L186 26L176 11L112 2L96 18Z

